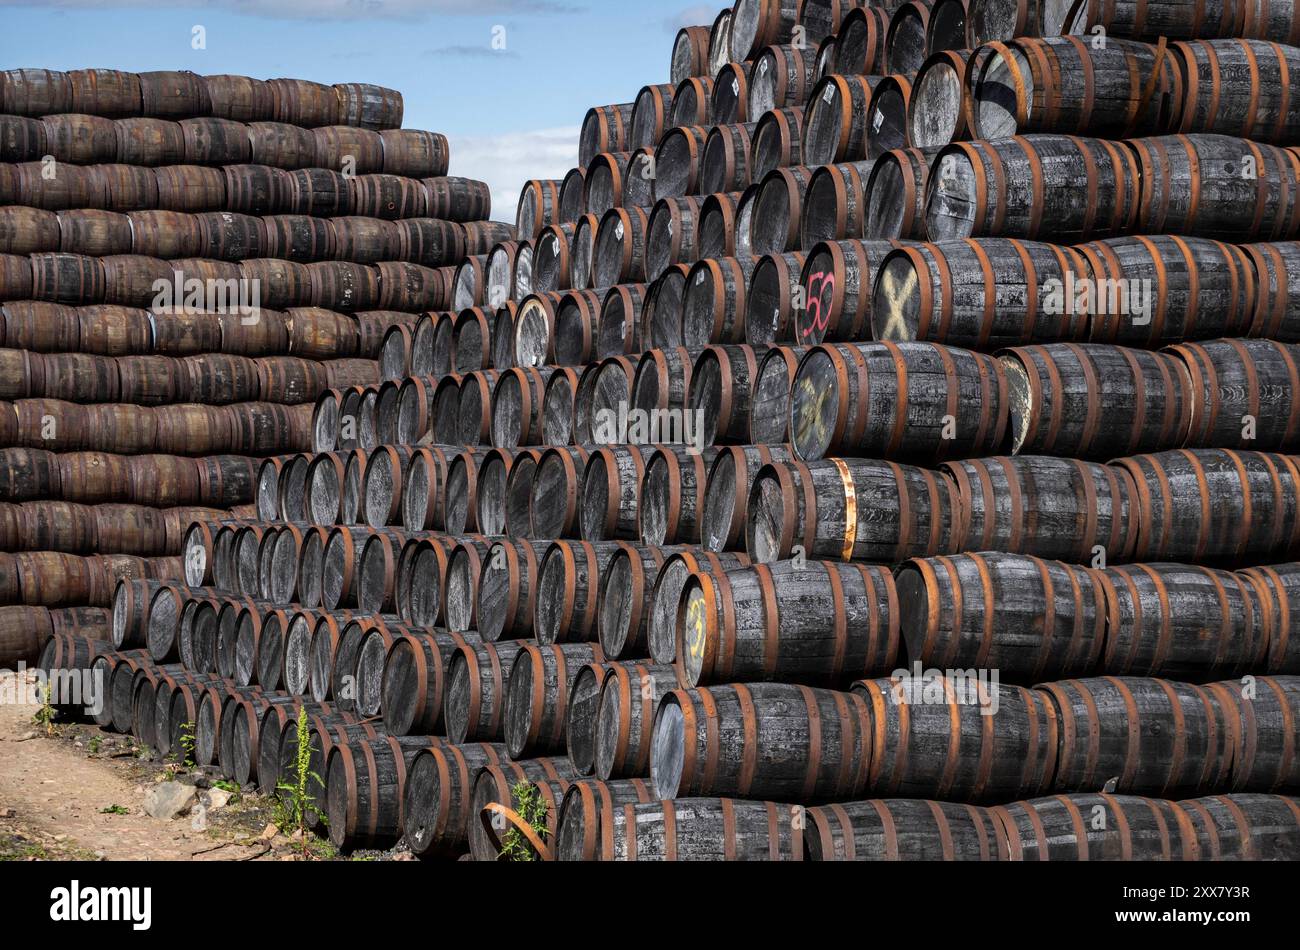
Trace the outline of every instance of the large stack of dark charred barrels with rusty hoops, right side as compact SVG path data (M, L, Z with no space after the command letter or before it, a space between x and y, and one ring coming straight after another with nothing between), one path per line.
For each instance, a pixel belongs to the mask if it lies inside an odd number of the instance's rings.
M44 664L341 847L1300 858L1300 18L1193 6L681 30Z

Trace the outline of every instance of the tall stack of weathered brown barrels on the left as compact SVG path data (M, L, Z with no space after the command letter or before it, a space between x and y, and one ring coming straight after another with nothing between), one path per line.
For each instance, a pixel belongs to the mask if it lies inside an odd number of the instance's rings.
M0 665L110 646L118 584L181 582L191 524L255 517L321 392L377 381L389 327L512 231L402 110L367 83L0 73Z

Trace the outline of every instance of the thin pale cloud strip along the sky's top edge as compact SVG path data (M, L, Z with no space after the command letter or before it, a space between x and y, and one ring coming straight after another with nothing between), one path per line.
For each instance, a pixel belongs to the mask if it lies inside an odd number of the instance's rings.
M0 6L31 6L31 0L0 0ZM187 8L278 19L424 19L443 14L558 14L585 6L568 0L42 0L56 9Z

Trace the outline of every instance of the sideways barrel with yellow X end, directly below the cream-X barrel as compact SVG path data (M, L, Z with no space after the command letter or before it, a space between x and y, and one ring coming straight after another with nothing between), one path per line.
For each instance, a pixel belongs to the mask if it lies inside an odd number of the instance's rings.
M892 418L861 417L881 400ZM1006 372L991 356L932 343L820 346L794 377L792 442L802 459L989 455L1005 439L1009 402Z

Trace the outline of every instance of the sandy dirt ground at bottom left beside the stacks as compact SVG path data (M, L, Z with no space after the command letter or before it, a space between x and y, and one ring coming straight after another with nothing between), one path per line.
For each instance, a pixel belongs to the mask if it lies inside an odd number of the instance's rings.
M0 695L5 695L0 673ZM268 828L264 798L238 795L209 812L207 828L190 817L144 812L146 793L173 777L168 763L142 758L135 742L94 725L47 730L39 706L0 703L0 860L285 860L300 849ZM316 858L335 856L311 840Z

